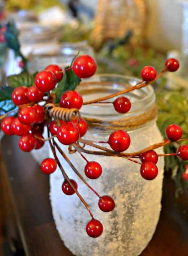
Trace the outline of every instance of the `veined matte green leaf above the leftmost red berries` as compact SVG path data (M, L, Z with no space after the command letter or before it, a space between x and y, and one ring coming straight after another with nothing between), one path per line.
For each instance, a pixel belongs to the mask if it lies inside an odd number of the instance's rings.
M26 72L19 75L9 75L7 77L7 83L13 88L17 88L19 86L30 87L34 85L34 76Z

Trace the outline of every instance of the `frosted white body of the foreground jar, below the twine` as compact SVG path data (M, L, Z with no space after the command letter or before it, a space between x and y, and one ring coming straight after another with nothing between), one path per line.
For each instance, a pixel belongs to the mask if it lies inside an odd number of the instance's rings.
M155 123L131 131L129 135L131 144L127 152L162 141ZM84 138L108 140L108 136L94 136L91 133L87 133ZM86 161L77 152L69 154L67 146L59 142L58 144L86 181L101 196L111 196L116 204L112 212L102 212L98 208L99 198L76 176L58 153L65 172L77 182L78 192L89 205L94 218L103 225L100 237L91 238L87 235L86 224L91 220L90 214L76 194L67 196L62 192L63 177L58 168L50 175L50 200L55 224L65 246L77 256L139 255L151 240L159 220L164 159L160 157L157 163L158 176L152 181L146 181L139 174L139 164L119 157L85 154L89 161L99 162L103 169L98 179L90 180L84 174ZM86 148L91 149L89 146ZM162 148L156 151L163 153ZM53 157L52 153L50 157Z

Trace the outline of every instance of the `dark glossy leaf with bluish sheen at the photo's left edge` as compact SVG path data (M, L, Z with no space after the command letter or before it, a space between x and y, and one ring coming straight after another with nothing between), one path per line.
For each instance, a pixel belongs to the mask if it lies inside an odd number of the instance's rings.
M13 90L14 88L9 86L0 87L0 115L4 115L16 108L11 99Z

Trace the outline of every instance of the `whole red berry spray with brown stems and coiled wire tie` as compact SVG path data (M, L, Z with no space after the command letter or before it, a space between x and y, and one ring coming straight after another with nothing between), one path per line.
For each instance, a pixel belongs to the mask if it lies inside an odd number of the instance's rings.
M20 149L25 152L39 149L44 145L44 142L49 141L54 158L44 159L41 162L41 170L45 174L51 174L59 166L64 178L62 192L68 196L76 193L91 215L91 220L86 225L86 232L90 237L98 237L102 234L102 223L93 217L89 206L79 193L76 181L69 179L56 152L60 152L76 175L98 196L98 206L102 211L112 211L115 207L114 200L108 195L99 195L86 182L84 177L57 144L55 137L57 137L60 143L67 145L70 154L78 152L80 157L86 161L84 171L86 177L90 179L97 179L102 174L102 166L96 161L89 162L86 154L125 158L128 161L132 161L133 164L139 164L138 171L140 171L140 175L144 179L153 180L158 174L156 165L158 157L177 155L182 160L188 160L188 145L186 144L180 145L176 153L157 154L154 151L154 149L171 142L187 140L181 139L182 130L180 126L176 124L169 125L166 128L167 139L162 142L146 147L138 152L125 153L124 151L128 150L131 140L128 132L124 130L113 131L107 141L83 139L82 136L87 132L87 122L81 117L79 109L82 105L92 103L102 104L104 100L116 97L113 102L105 101L105 103L113 104L114 109L118 113L127 113L131 109L130 100L124 96L117 96L147 86L162 76L165 71L174 72L178 68L179 63L174 58L170 58L165 62L165 67L159 75L157 75L154 67L146 66L141 70L142 81L137 85L128 85L128 88L121 92L87 102L83 102L82 96L78 92L72 89L69 90L70 87L66 86L68 90L60 95L60 102L56 102L57 89L64 75L68 75L69 73L69 75L74 76L74 79L80 79L91 77L96 72L97 64L95 60L88 55L81 55L75 58L72 66L67 69L62 70L58 65L51 64L35 76L35 85L29 88L19 86L13 90L12 101L18 108L1 116L1 119L3 119L1 124L2 131L6 135L15 134L21 136L18 144ZM56 86L57 83L59 84ZM17 114L17 117L12 116L12 114ZM48 138L44 138L42 135L44 126L47 126ZM105 143L109 144L111 149L99 145L104 145ZM86 149L85 145L93 147L93 150Z

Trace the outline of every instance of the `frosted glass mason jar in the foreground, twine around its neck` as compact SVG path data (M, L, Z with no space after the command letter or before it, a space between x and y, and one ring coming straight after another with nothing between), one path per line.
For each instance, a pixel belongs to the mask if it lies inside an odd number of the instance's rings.
M96 75L84 80L77 91L84 101L122 91L138 81L123 75ZM117 129L127 130L131 144L126 152L135 152L151 144L162 141L156 125L155 95L152 86L134 90L126 96L132 107L127 114L118 114L112 104L94 103L82 106L82 117L88 121L88 132L83 137L93 141L108 141L109 134ZM113 101L114 98L107 100ZM127 120L127 122L126 122ZM126 124L127 123L127 124ZM151 240L159 220L161 210L164 160L157 163L159 174L152 180L144 180L140 165L120 157L84 154L88 161L102 165L102 175L96 180L84 174L86 162L79 153L68 153L68 147L60 144L77 170L99 193L109 195L115 201L112 212L102 212L98 208L98 197L76 176L69 165L58 154L69 178L78 184L78 192L86 200L95 219L103 225L100 237L91 238L86 233L86 224L91 216L76 194L65 195L61 191L63 177L59 169L50 175L50 199L53 217L61 239L69 250L77 256L136 256ZM102 144L104 146L104 144ZM108 144L105 144L108 147ZM86 149L93 149L89 146ZM163 153L163 149L156 150ZM50 156L52 154L50 153Z

